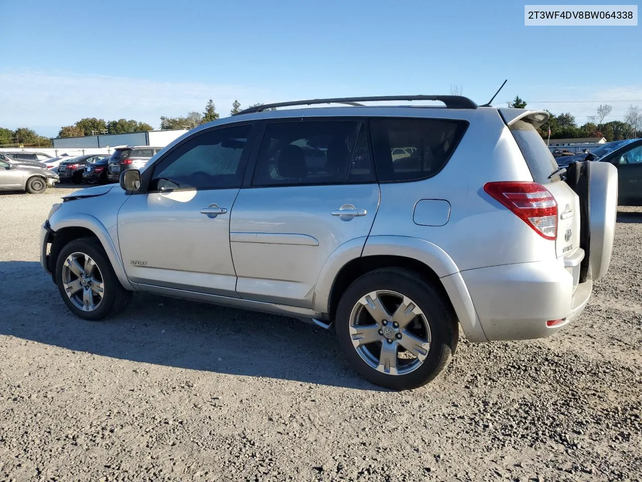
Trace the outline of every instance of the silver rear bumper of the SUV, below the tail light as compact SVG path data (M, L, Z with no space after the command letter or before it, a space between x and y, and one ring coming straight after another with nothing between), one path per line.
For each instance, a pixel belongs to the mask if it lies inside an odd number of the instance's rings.
M593 282L574 290L572 271L563 260L552 260L471 269L462 276L484 334L498 341L546 337L573 321L586 307ZM562 321L548 326L552 320Z

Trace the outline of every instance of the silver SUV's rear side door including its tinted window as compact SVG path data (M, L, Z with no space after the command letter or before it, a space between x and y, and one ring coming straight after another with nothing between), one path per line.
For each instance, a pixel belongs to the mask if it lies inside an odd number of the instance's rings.
M252 185L232 210L241 298L309 308L329 256L363 248L379 204L362 121L266 125Z

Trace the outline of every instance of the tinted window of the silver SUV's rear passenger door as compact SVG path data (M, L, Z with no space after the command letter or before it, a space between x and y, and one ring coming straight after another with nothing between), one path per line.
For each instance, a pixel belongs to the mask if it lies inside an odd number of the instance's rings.
M252 185L370 181L370 158L360 121L295 121L267 125Z

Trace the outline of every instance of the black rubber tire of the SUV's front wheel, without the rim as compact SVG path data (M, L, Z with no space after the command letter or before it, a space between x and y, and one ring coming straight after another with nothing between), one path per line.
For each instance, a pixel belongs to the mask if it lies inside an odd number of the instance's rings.
M67 292L65 292L62 269L67 257L73 253L87 254L94 260L100 270L104 291L103 298L95 310L83 311L76 307L69 296L67 296ZM121 285L118 280L98 238L80 238L64 245L56 260L55 281L56 285L58 285L60 296L62 296L69 310L71 310L74 315L89 321L99 321L120 312L132 298L132 292L123 288L123 285Z

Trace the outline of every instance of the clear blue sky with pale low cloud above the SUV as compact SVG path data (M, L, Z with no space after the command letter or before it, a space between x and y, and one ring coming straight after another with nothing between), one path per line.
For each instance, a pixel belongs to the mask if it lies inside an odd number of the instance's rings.
M641 26L526 27L516 1L0 0L0 18L19 20L0 33L0 127L47 136L94 116L158 127L209 98L227 115L460 85L484 103L505 78L494 105L519 94L580 123L642 107Z

